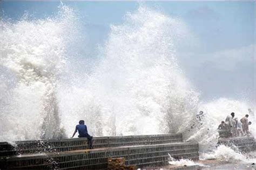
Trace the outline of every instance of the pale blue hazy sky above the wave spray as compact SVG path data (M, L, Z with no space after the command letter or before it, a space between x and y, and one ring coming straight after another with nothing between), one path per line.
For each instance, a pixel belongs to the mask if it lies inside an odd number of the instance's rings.
M91 56L106 41L110 25L121 24L127 12L143 3L182 19L194 39L177 48L185 76L201 99L221 97L254 100L255 2L68 2L79 13ZM60 2L3 1L4 18L18 21L25 12L41 19L55 15Z

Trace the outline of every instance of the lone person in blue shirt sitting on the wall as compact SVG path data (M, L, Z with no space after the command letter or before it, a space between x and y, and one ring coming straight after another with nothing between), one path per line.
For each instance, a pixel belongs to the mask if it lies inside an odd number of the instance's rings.
M90 149L93 149L92 147L92 136L90 136L87 132L87 126L84 124L84 120L80 120L79 121L79 125L76 126L76 130L73 133L72 137L73 138L75 136L75 134L79 133L78 138L87 138L88 140L88 145Z

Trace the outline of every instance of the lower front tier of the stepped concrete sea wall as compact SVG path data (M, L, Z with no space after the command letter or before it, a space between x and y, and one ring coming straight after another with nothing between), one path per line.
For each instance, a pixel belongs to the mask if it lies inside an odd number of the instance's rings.
M124 157L126 165L163 166L168 164L169 155L178 158L198 159L198 144L180 142L143 146L123 146L112 148L85 149L44 155L21 155L0 161L0 168L16 169L106 169L107 158Z

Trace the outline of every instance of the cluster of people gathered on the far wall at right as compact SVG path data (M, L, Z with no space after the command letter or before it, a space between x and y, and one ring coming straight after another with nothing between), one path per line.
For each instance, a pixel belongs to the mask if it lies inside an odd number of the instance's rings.
M230 115L227 115L225 121L221 121L221 124L218 127L220 137L243 137L245 135L250 135L249 125L251 121L248 121L249 115L246 114L245 117L240 120L235 117L235 113L232 112Z

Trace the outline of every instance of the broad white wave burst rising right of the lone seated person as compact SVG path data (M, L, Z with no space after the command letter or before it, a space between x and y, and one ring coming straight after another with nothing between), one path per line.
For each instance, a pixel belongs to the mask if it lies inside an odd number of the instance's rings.
M123 24L112 25L84 86L65 90L70 91L69 99L62 100L69 133L74 117L85 119L93 135L182 131L198 103L198 93L176 61L176 41L184 32L180 19L145 6L127 13Z

